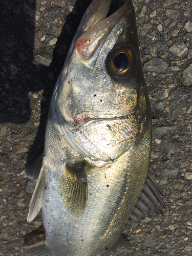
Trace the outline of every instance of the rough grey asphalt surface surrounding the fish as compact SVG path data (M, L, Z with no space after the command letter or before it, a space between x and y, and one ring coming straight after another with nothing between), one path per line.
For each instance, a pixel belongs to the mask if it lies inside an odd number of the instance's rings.
M18 174L43 150L54 84L89 3L4 0L0 5L1 256L24 255L24 247L45 239L40 215L27 222L35 182ZM191 1L134 4L153 112L151 163L167 210L164 218L127 225L129 247L113 255L191 255Z

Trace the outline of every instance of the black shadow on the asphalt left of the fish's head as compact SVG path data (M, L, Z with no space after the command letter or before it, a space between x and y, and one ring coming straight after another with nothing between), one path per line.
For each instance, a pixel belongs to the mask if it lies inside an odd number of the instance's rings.
M35 96L33 98L31 95L42 94L42 102L39 103L38 132L27 153L26 167L43 151L52 92L73 36L91 0L86 3L77 0L73 11L66 17L65 11L70 3L62 8L57 6L57 2L59 0L52 1L55 4L45 5L46 10L43 13L46 18L42 18L44 27L39 25L40 2L36 4L33 0L20 2L13 0L10 4L6 3L5 7L0 5L2 14L0 21L2 25L0 30L0 48L2 49L0 123L25 124L23 126L25 129L26 123L31 118L31 111L33 111L31 105L34 106ZM71 2L74 3L74 1ZM54 21L60 17L63 17L62 20L65 23L58 28L54 25ZM61 27L60 35L55 35ZM46 38L42 42L40 39L45 35L45 30ZM55 47L49 46L48 42L55 37L58 37Z

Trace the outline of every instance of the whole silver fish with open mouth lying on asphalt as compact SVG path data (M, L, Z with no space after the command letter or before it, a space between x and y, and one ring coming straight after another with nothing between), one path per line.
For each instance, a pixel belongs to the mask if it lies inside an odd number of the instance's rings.
M23 171L36 179L28 221L41 209L46 237L27 255L106 255L127 221L164 215L133 3L107 16L110 5L93 0L84 13L52 95L44 153Z

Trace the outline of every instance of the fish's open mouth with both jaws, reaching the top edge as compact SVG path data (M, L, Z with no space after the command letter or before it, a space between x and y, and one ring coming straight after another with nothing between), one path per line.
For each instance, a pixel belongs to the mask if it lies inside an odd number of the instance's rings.
M84 62L89 62L100 52L105 38L109 35L115 24L122 18L129 18L132 0L126 0L122 7L109 17L106 17L111 0L93 0L85 16L82 18L82 34L76 40L76 50ZM81 24L79 27L82 26Z

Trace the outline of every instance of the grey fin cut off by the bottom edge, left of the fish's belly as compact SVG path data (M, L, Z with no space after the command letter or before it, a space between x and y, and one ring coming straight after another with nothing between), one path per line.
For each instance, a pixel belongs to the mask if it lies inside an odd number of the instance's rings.
M28 246L24 251L30 256L53 256L45 241Z

